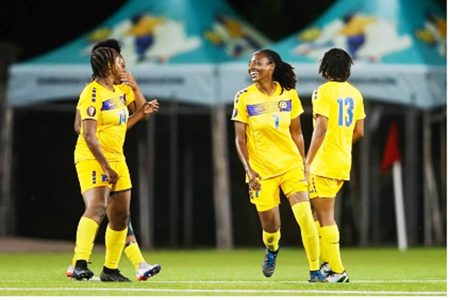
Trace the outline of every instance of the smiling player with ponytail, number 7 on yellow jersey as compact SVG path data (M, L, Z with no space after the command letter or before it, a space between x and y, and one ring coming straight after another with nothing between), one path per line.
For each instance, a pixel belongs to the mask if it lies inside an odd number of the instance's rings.
M301 229L309 262L310 281L322 281L319 236L314 225L304 173L303 112L295 90L293 67L275 51L253 53L248 73L253 81L236 94L232 120L236 150L245 169L250 201L255 204L266 246L262 271L275 271L279 251L280 188Z

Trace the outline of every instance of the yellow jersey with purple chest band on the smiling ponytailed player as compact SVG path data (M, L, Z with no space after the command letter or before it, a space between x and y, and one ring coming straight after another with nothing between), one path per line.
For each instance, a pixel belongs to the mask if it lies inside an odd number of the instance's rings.
M294 168L303 170L302 157L289 130L291 120L299 117L303 107L295 89L281 93L280 84L276 85L271 96L260 92L255 84L239 91L231 117L247 125L250 166L262 179Z

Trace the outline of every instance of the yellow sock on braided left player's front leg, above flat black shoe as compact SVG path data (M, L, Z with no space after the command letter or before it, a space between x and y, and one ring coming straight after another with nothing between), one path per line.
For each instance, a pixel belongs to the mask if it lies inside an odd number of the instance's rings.
M128 228L124 230L112 230L109 225L106 228L105 234L105 267L110 269L119 268L120 257L122 256L123 247L125 246L125 239L127 238Z

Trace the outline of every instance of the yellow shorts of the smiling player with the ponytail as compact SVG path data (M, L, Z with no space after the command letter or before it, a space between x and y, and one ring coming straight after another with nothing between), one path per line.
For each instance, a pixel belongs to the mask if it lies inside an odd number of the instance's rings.
M286 197L293 193L308 192L308 183L303 171L292 169L280 176L260 181L261 189L254 191L249 188L250 202L255 204L257 211L270 210L280 205L280 187Z

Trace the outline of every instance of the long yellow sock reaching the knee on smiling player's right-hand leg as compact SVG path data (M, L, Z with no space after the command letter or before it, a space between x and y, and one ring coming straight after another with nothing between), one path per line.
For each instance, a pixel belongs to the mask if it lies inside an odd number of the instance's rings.
M309 201L296 203L292 206L292 212L302 233L303 247L308 258L309 269L315 271L319 269L319 234L311 211Z

